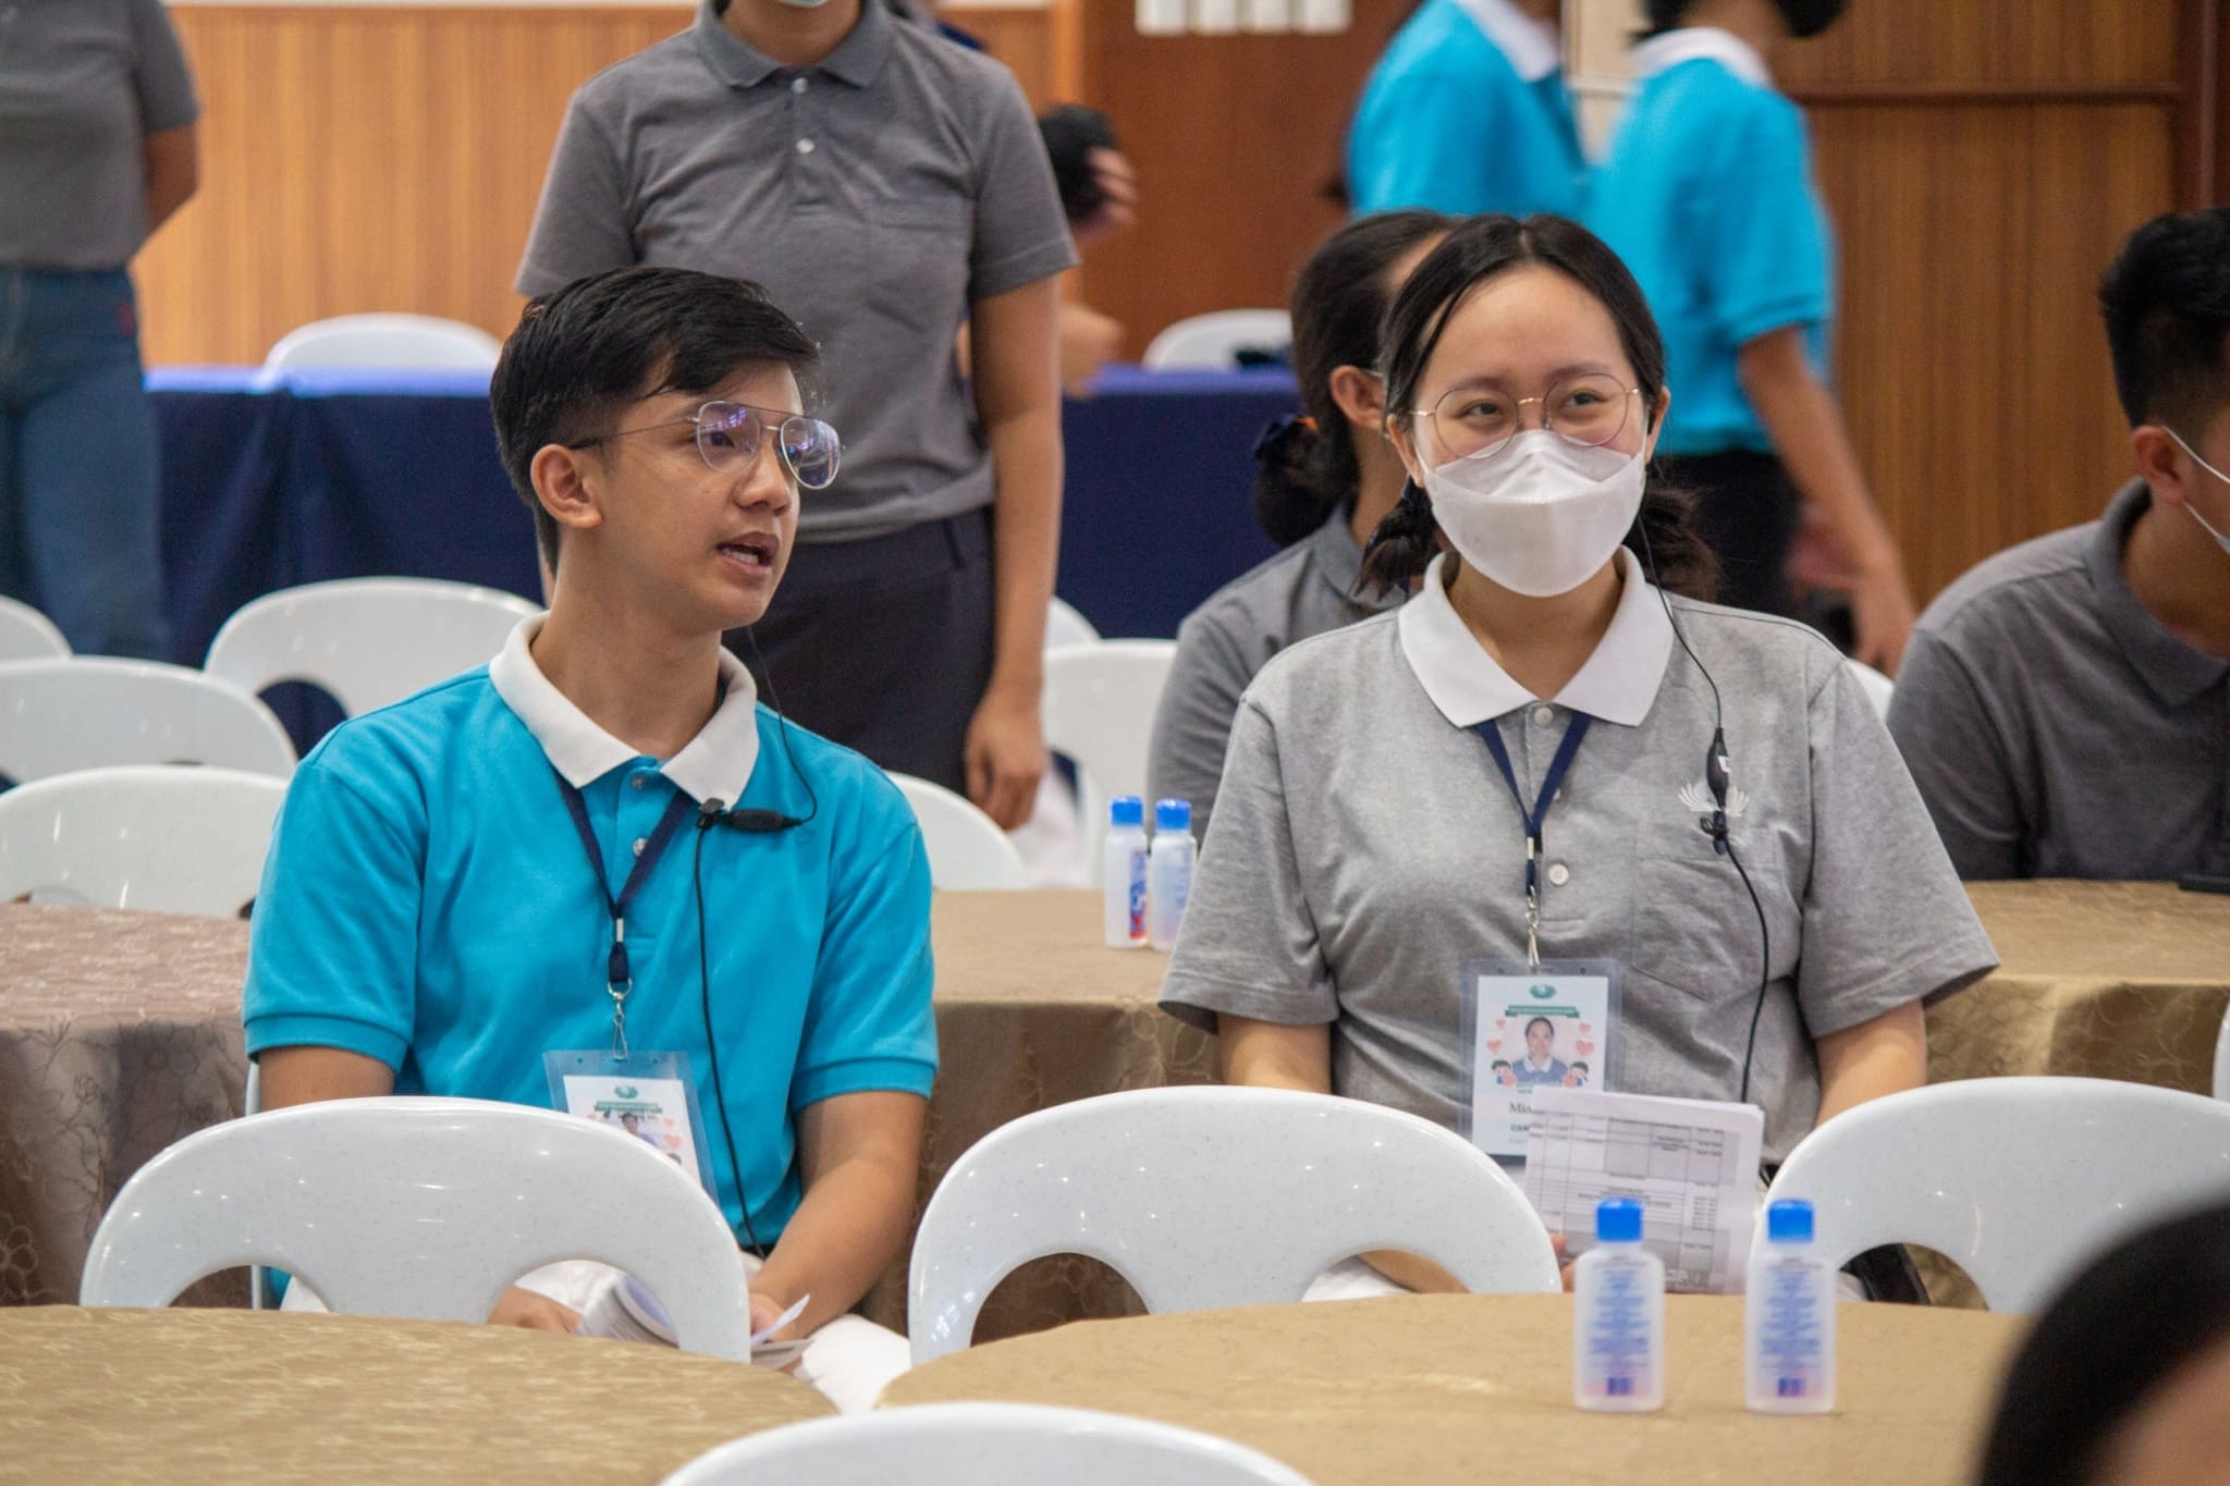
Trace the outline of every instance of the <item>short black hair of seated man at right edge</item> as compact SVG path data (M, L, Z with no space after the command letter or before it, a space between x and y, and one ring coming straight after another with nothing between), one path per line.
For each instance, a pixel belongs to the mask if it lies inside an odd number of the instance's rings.
M2185 439L2230 403L2230 207L2170 212L2130 234L2098 281L2114 390L2130 426Z

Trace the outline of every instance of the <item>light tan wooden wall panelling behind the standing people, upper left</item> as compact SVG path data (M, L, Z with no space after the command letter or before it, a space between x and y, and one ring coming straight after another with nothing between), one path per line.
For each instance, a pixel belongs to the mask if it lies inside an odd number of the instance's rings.
M566 98L689 7L178 7L201 194L138 261L156 363L261 361L330 314L502 334ZM952 9L1050 96L1046 11Z

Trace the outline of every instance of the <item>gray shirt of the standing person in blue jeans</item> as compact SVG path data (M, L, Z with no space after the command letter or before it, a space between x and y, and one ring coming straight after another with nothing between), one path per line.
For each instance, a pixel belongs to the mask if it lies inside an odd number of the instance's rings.
M201 118L156 0L0 0L0 265L123 267L149 134Z

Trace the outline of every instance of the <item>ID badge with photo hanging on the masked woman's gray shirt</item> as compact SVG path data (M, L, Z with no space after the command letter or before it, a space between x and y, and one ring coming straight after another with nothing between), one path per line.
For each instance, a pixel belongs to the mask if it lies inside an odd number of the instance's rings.
M1534 1089L1619 1087L1617 960L1465 960L1463 1134L1523 1165Z

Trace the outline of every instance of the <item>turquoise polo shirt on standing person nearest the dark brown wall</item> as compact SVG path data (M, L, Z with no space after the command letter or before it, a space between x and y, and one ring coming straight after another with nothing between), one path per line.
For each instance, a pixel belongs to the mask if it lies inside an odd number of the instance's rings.
M1664 332L1672 410L1664 454L1768 452L1742 392L1744 343L1804 325L1826 379L1835 263L1797 105L1726 31L1635 47L1635 94L1594 174L1588 225L1641 281Z

